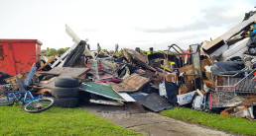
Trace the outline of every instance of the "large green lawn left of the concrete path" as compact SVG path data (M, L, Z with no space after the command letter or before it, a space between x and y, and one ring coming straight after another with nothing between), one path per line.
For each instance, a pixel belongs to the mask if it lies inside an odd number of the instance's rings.
M0 106L0 135L139 135L81 108L52 107L29 113Z

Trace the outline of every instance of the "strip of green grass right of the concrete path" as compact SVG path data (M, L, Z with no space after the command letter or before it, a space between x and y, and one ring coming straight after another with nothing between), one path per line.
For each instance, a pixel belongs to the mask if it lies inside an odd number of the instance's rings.
M256 122L236 116L222 116L215 113L207 113L186 107L176 107L161 111L162 115L191 121L205 126L214 127L231 133L243 135L256 135Z

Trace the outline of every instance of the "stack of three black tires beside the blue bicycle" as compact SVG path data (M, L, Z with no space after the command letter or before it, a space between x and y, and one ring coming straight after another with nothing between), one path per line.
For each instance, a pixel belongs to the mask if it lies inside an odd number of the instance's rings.
M79 104L79 82L77 79L60 78L55 82L52 95L55 97L55 106L76 107Z

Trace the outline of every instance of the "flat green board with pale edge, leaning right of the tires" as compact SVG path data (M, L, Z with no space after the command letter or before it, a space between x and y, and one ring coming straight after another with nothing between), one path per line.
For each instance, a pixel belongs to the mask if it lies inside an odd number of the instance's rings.
M111 87L102 83L82 82L80 85L85 92L102 96L116 101L124 101Z

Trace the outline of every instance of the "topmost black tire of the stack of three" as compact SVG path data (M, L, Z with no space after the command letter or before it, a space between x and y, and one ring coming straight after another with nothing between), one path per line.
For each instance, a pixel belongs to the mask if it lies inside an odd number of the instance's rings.
M55 82L55 86L61 88L75 88L79 87L79 82L77 79L60 78Z

